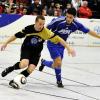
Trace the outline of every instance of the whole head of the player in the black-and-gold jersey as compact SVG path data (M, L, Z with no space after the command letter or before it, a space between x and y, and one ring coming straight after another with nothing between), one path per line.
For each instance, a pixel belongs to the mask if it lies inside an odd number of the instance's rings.
M37 31L41 31L45 24L45 18L42 15L38 15L35 19L35 28Z

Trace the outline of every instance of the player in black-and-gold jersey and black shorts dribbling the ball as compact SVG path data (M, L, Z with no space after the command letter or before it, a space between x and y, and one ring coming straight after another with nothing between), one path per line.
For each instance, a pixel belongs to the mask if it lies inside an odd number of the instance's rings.
M43 49L43 43L45 40L50 40L51 42L57 44L58 42L61 43L69 54L73 54L73 49L70 48L67 43L60 38L59 36L55 35L49 29L44 27L45 18L41 15L36 17L35 24L29 25L25 27L22 31L16 33L14 36L11 36L2 46L1 51L4 50L7 45L16 40L17 38L25 37L25 40L21 46L21 57L20 62L17 62L15 65L6 68L2 73L1 76L5 77L8 73L17 70L26 68L20 74L28 77L35 67L38 64L39 58L41 56L41 51ZM12 87L17 88L14 81L11 80L9 83Z

